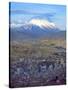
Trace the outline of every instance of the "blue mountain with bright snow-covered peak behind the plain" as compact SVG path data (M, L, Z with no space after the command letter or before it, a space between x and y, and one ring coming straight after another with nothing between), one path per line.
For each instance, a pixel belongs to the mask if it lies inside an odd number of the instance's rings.
M52 22L32 19L26 24L12 24L10 26L10 39L40 39L40 38L65 38L66 32L61 31Z

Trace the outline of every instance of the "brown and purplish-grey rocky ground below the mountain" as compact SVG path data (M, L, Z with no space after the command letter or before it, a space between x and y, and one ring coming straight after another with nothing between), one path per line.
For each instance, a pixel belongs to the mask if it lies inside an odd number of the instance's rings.
M65 46L54 42L11 45L10 87L66 84Z

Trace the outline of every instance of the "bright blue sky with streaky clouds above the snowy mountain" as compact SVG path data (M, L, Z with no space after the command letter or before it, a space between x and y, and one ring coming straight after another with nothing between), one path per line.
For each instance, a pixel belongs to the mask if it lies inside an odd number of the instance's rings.
M25 23L31 19L44 19L66 29L66 6L12 2L10 5L11 23Z

